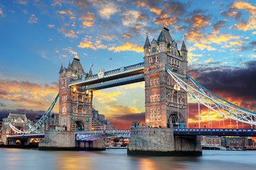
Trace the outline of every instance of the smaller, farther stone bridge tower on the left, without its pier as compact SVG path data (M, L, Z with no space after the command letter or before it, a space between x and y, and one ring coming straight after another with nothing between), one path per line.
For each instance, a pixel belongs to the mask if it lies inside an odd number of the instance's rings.
M85 73L79 56L74 56L68 68L59 70L59 126L66 131L91 130L92 91L83 88L70 88L71 80L85 78L91 73Z

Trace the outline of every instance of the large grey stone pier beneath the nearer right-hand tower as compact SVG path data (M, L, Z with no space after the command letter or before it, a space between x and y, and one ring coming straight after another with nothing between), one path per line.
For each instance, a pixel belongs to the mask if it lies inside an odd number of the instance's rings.
M128 155L201 156L200 137L174 136L170 128L138 127L131 129Z

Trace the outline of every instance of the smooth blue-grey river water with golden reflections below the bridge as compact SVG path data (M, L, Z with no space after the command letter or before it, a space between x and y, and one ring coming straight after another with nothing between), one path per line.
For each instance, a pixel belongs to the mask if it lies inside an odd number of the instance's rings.
M99 152L0 148L0 169L256 169L255 151L203 150L201 157L127 156Z

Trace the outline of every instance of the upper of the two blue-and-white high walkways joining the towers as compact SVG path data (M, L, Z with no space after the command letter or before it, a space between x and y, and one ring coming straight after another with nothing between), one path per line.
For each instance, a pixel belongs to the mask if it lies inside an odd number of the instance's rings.
M101 82L107 82L110 80L118 80L121 78L131 77L132 75L139 75L141 73L144 73L144 63L138 63L136 65L130 65L127 67L120 67L119 69L113 69L111 71L105 71L101 78L98 77L98 74L96 74L92 75L91 77L72 80L69 86L84 87ZM144 80L141 80L141 82L142 81Z

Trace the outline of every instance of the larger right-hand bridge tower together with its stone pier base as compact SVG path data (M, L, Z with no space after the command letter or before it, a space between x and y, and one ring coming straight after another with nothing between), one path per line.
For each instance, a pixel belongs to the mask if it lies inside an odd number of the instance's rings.
M129 155L201 156L201 139L197 136L173 135L173 128L186 128L188 99L182 88L167 73L169 67L184 81L187 50L172 39L169 29L162 27L158 39L144 45L145 122L147 127L131 129Z

